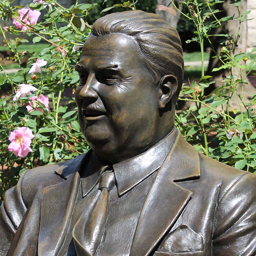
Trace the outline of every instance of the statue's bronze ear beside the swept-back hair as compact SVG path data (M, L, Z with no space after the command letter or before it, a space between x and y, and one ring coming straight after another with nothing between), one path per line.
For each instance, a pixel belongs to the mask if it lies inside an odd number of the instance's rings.
M164 108L167 105L167 103L171 101L172 96L177 91L178 80L174 75L165 75L160 80L159 85L161 90L159 107Z

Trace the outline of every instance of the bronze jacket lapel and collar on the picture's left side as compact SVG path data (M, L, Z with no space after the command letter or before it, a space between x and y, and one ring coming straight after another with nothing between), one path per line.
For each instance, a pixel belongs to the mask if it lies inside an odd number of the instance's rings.
M62 249L78 194L78 171L88 155L80 155L60 165L55 172L64 178L63 182L43 190L38 256L55 256Z

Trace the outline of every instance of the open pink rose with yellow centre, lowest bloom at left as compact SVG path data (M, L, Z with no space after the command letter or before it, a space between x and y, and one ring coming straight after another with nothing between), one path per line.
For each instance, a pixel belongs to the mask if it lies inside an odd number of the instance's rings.
M35 136L29 128L24 126L18 127L10 133L9 141L11 143L8 145L8 150L10 152L13 151L16 156L25 157L28 152L33 152L30 144L34 137Z

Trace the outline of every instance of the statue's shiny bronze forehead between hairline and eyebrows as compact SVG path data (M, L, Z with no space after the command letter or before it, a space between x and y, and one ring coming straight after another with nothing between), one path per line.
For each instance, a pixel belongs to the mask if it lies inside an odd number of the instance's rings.
M86 40L79 63L87 66L93 62L101 65L103 62L125 63L141 57L138 43L132 36L125 34L90 35Z

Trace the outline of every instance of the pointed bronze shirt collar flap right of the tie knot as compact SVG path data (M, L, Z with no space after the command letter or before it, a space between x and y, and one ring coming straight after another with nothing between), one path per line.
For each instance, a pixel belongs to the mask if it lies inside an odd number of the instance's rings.
M161 167L176 136L177 129L174 128L146 152L113 165L119 196L140 184Z

